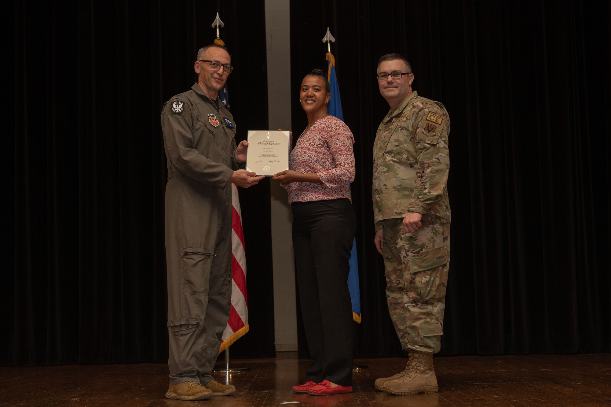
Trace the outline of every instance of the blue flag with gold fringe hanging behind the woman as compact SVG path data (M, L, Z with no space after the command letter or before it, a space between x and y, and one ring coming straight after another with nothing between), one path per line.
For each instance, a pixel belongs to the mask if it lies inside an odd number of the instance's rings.
M333 54L327 53L327 68L329 69L328 78L331 87L331 99L327 105L327 113L343 122L342 100L340 99L340 88L337 86L337 77L335 76L335 58ZM350 186L348 185L348 191ZM350 192L350 200L352 193ZM348 274L348 290L350 291L350 301L352 302L352 316L355 321L360 323L360 290L359 290L359 263L356 259L356 238L352 243L350 251L350 274Z

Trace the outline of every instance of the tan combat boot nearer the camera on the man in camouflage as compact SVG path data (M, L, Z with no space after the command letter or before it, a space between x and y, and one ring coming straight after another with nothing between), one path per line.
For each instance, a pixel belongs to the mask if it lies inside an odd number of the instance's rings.
M410 352L409 361L411 362L409 373L397 380L387 381L382 391L398 395L436 393L439 386L433 369L433 356Z

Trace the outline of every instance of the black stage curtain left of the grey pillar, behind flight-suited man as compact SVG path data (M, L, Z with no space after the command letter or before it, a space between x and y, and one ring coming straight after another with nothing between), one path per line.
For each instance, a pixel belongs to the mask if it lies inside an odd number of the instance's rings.
M5 206L0 363L167 361L159 113L197 81L196 52L216 37L220 11L238 138L267 128L263 1L11 5L14 161L5 174L14 200ZM242 200L251 332L232 356L269 357L269 183Z

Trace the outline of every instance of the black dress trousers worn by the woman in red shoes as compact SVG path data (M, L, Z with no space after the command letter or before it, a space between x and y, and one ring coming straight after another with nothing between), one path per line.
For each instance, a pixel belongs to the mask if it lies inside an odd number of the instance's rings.
M352 386L348 273L356 217L348 199L293 202L293 251L312 364L305 381Z

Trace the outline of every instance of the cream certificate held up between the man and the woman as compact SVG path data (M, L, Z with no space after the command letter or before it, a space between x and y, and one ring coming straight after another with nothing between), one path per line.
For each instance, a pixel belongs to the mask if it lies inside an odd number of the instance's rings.
M246 171L271 176L287 170L290 144L288 131L249 130Z

